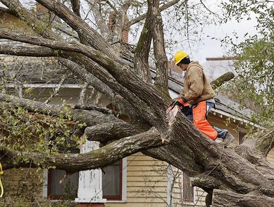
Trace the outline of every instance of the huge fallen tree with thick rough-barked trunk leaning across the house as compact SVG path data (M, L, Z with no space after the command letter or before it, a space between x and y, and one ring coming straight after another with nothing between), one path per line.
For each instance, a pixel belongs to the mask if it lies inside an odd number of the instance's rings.
M0 31L0 38L29 44L17 47L1 45L0 53L58 58L67 70L108 97L131 120L125 123L105 109L67 111L50 104L0 94L1 106L7 109L21 107L27 112L43 114L52 119L62 116L74 127L77 123L85 123L87 138L105 145L90 153L54 155L13 151L4 145L0 151L4 169L54 166L72 173L104 167L133 153L143 152L188 174L193 186L208 192L208 204L213 196L212 206L222 206L222 201L228 202L223 206L249 206L247 200L255 198L257 202L265 199L260 206L269 206L269 203L274 202L274 167L266 161L268 152L274 146L273 127L254 134L230 149L201 134L182 113L178 113L175 124L167 125L165 110L171 99L167 87L167 58L159 1L148 1L144 28L134 51L138 54L135 56L134 69L117 55L119 47L111 46L79 16L78 1L72 1L72 5L76 6L72 11L57 0L37 0L77 32L79 41L71 42L58 37L48 28L48 24L27 11L19 1L1 2L8 7L6 12L30 25L36 34ZM128 6L126 3L122 5L123 8ZM127 25L122 21L123 15L118 15L121 28ZM118 32L118 36L121 35ZM148 66L151 41L156 62L154 83L151 82ZM222 82L217 80L214 85L217 87ZM2 125L2 129L8 131L5 127L7 125ZM110 139L116 141L106 144ZM237 203L236 200L241 202Z

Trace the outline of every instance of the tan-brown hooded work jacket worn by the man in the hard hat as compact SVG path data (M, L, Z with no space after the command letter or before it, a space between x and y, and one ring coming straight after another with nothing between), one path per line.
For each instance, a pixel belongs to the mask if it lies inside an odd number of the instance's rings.
M195 104L215 97L208 78L198 62L191 62L185 75L184 88L178 99L185 98L189 104Z

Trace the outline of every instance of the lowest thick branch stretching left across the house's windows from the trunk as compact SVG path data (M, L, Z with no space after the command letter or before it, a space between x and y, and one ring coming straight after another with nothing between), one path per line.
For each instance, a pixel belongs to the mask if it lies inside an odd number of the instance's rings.
M48 166L73 173L81 170L96 169L108 166L124 157L145 149L162 145L159 133L155 128L149 131L114 141L106 146L83 154L58 154L56 156L41 153L5 152L1 160L3 169L13 168L13 159L20 159L16 167ZM8 154L7 154L8 153ZM30 164L32 163L32 164Z

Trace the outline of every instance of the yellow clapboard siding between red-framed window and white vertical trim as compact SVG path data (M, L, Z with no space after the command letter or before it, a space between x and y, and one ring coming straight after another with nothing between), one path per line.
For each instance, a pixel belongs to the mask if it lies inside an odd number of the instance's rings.
M106 207L166 206L167 164L136 153L127 158L125 203L106 203Z

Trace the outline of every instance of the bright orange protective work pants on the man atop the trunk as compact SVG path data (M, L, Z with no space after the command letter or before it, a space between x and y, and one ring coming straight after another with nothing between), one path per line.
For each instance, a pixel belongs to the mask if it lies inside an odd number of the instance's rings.
M192 108L194 125L213 140L217 138L217 131L207 120L207 102L201 101Z

